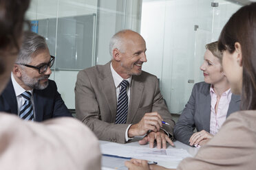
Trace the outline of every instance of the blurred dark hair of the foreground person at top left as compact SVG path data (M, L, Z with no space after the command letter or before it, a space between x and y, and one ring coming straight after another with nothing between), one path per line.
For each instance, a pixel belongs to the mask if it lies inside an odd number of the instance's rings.
M25 11L30 0L0 0L0 49L16 47L23 30Z

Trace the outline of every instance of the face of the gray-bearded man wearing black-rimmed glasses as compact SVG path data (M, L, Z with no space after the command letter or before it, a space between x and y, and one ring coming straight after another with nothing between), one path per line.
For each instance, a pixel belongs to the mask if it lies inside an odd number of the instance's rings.
M42 64L49 62L50 59L51 56L48 49L39 49L32 54L32 60L29 65L41 66ZM47 70L43 74L39 74L38 69L30 68L28 66L22 66L23 68L21 68L20 65L17 65L17 67L19 67L19 73L14 69L14 73L16 73L20 80L17 82L25 90L31 90L33 88L42 90L48 86L48 78L52 73L49 67L47 67Z

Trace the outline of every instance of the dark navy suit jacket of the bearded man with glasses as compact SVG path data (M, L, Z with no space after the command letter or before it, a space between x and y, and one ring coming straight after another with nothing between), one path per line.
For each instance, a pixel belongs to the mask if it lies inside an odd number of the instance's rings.
M33 90L35 121L45 121L54 117L72 117L67 110L56 83L49 80L49 85L43 90ZM0 96L0 111L18 114L18 104L12 80Z

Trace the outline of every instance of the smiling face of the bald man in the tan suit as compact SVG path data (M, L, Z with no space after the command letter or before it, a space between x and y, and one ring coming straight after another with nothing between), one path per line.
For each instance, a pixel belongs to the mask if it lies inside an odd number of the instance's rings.
M114 49L113 68L124 79L142 73L142 64L147 62L146 42L136 32L127 32L122 38L122 49Z

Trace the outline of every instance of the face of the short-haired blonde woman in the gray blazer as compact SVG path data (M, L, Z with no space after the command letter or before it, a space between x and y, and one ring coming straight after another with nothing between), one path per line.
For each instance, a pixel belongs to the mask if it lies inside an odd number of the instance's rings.
M200 69L204 73L204 82L208 84L215 85L226 80L220 60L213 56L213 53L211 53L209 49L206 49L204 53L204 62L202 66L200 66Z

